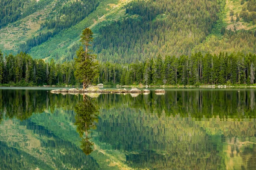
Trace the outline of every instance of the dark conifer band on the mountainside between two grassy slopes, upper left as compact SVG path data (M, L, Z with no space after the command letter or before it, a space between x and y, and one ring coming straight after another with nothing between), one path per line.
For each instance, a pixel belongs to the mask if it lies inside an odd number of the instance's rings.
M61 1L57 1L55 4L55 14L51 14L52 18L47 19L41 24L41 29L47 28L46 33L39 33L38 36L32 37L26 41L26 43L20 44L19 51L29 52L31 48L46 42L50 38L57 35L61 30L70 28L81 22L85 17L87 17L91 12L93 12L99 5L98 0L81 0L74 1L72 3L67 3L61 5ZM79 11L79 13L77 12Z

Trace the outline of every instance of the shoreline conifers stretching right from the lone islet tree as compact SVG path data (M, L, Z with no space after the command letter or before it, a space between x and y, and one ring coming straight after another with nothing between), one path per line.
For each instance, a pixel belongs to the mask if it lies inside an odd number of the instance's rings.
M99 81L105 85L225 85L254 84L255 54L241 52L218 56L201 52L191 56L166 56L122 66L100 65ZM253 64L253 65L252 65ZM249 79L247 81L247 79ZM229 83L228 83L229 84Z

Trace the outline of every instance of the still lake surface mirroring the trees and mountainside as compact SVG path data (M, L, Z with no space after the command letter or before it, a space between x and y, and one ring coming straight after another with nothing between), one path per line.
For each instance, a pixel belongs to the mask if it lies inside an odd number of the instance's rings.
M52 89L0 88L1 170L256 169L256 89Z

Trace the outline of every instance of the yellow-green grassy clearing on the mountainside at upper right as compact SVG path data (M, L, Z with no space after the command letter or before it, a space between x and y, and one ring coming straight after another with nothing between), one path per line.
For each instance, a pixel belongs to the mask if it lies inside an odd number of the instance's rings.
M237 40L237 42L233 41L233 44L231 44L227 38L224 38L220 34L222 27L225 27L228 30L231 29L232 31L234 31L234 26L236 26L236 30L238 31L241 29L255 30L256 25L253 25L252 22L244 22L242 18L240 18L239 22L230 22L230 11L234 11L233 19L236 20L236 13L239 14L243 6L246 5L246 1L241 5L241 0L226 0L223 10L219 13L220 19L217 21L215 28L212 29L212 34L210 34L200 45L196 46L193 51L219 53L220 51L227 50L228 52L233 52L238 49L237 47L239 47L241 51L253 53L254 45L252 46L250 43L239 44L239 40Z

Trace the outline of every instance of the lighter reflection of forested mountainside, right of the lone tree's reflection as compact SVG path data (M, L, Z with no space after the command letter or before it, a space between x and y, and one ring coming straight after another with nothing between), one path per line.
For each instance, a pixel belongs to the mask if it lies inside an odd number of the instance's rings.
M241 122L220 118L196 120L191 117L157 116L138 108L103 109L98 122L98 141L106 150L122 150L129 166L150 169L250 169L253 150L240 150L239 168L227 157L230 139L244 146L256 144L256 120ZM253 158L253 157L250 157ZM250 162L256 166L256 161Z

